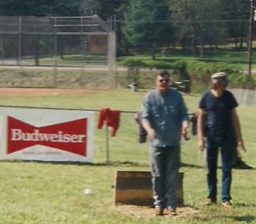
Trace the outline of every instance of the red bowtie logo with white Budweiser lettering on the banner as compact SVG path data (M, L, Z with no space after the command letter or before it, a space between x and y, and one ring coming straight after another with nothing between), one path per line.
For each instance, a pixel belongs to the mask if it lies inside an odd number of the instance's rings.
M8 116L7 154L35 145L86 156L87 119L36 127Z

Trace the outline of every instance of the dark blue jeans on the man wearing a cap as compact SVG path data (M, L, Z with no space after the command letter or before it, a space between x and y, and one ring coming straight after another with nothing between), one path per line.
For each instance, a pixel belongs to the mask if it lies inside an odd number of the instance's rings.
M230 188L232 182L232 158L236 151L236 142L231 136L218 137L207 135L205 138L206 161L207 161L207 184L209 195L207 198L216 200L217 198L217 166L218 149L221 149L222 162L222 188L221 200L227 202L231 200Z

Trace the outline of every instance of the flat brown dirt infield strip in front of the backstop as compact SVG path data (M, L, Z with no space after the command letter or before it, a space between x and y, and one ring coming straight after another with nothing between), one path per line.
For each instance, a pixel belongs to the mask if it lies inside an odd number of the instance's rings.
M99 90L0 88L0 96L84 96L97 92L99 92Z

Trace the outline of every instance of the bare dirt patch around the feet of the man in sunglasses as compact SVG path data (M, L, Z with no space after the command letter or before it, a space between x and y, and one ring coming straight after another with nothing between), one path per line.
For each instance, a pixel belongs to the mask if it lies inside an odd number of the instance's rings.
M146 207L146 206L135 206L135 205L117 205L115 206L115 211L123 214L130 214L131 216L136 217L145 217L145 216L155 216L154 208ZM192 207L178 207L177 208L177 216L172 216L173 218L182 218L187 217L189 215L193 215L198 213L196 209ZM163 217L168 217L166 213L164 213Z

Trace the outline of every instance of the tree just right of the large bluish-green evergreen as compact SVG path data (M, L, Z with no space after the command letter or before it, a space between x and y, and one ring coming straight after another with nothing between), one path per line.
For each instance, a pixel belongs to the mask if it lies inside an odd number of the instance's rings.
M170 9L177 20L191 21L179 24L177 29L182 36L184 47L193 46L194 56L197 56L197 46L200 46L200 57L204 57L205 44L218 45L226 36L225 26L221 23L205 22L205 20L220 20L223 12L221 0L171 0ZM190 40L188 40L188 37Z

